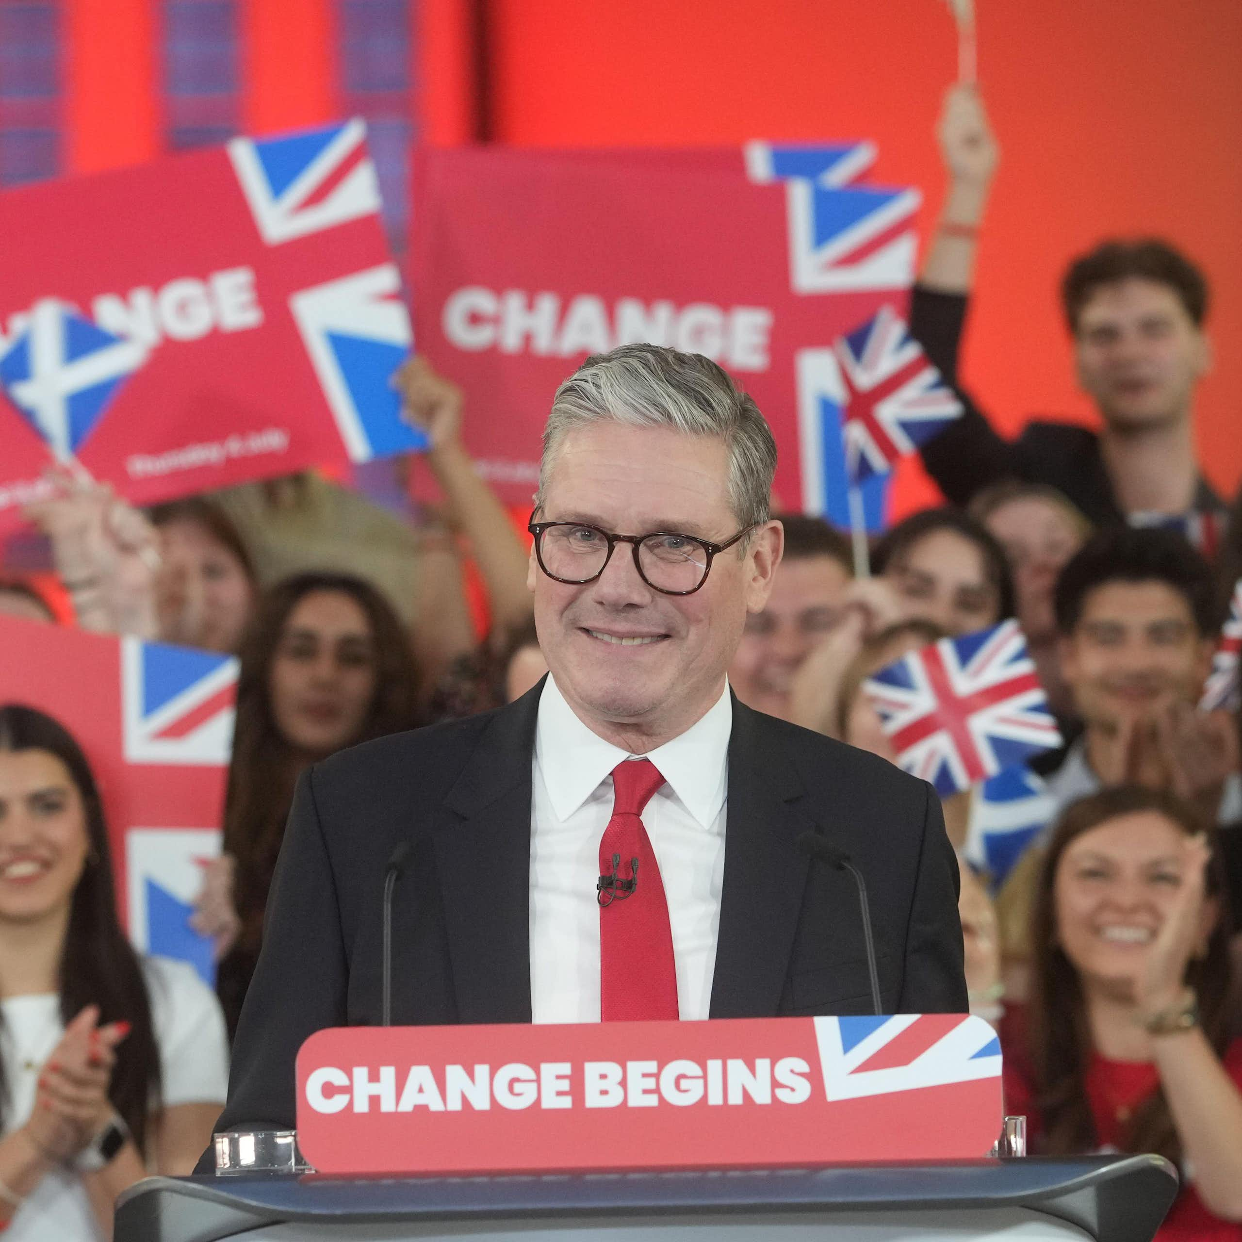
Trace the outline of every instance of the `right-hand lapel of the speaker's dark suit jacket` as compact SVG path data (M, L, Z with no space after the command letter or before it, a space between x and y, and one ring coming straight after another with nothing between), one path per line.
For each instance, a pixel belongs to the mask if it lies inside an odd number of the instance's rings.
M795 845L815 822L802 781L764 717L733 700L724 888L712 1017L770 1017L780 1002L810 859Z

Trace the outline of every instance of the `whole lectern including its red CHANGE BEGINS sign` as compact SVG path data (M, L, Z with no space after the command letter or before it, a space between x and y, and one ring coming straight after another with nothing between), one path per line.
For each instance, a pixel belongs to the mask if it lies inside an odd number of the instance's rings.
M318 1031L296 1135L217 1134L114 1237L1148 1242L1172 1166L1021 1158L1000 1072L965 1013Z

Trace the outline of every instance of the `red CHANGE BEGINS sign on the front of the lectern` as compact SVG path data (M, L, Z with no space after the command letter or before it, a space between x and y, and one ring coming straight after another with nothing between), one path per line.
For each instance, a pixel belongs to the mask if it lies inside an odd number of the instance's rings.
M972 1159L1000 1074L960 1013L337 1028L298 1053L298 1140L337 1174Z

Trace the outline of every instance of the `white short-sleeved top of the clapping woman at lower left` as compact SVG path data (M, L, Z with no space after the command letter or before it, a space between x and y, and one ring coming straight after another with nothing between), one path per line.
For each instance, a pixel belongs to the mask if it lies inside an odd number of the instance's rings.
M216 994L194 968L171 958L144 958L147 992L160 1063L160 1104L224 1105L229 1040ZM65 1033L60 997L10 996L0 1002L4 1030L5 1134L20 1129L35 1107L39 1071ZM103 1238L81 1177L53 1169L12 1215L5 1242L98 1242Z

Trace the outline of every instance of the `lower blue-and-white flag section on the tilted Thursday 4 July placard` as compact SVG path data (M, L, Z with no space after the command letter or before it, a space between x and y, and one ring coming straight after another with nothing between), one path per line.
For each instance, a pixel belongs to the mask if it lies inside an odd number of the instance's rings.
M289 307L350 461L425 448L390 384L414 343L396 266L294 293Z

